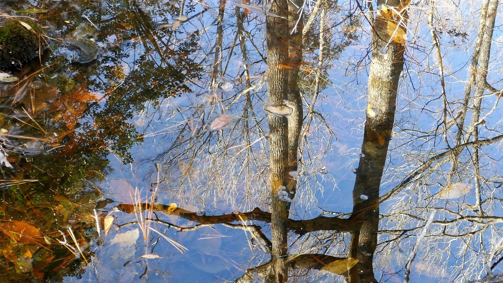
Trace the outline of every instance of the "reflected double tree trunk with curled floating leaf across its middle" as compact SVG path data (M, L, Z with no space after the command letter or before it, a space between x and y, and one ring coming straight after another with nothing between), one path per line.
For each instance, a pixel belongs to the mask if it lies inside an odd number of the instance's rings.
M297 170L297 148L302 127L302 102L297 85L299 67L302 60L302 19L297 7L302 2L277 0L271 13L277 16L266 18L267 28L267 80L268 99L273 106L283 105L285 100L292 103L293 113L288 117L269 115L270 176L271 176L271 226L272 251L271 269L268 282L286 282L287 221L290 203L280 199L280 186L285 186L288 196L293 199L297 181L288 172Z

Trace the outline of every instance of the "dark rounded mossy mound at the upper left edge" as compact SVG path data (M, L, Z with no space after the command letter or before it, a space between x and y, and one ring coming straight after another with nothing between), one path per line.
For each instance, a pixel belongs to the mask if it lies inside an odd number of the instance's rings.
M38 57L41 29L33 22L8 20L0 27L0 67L16 68Z

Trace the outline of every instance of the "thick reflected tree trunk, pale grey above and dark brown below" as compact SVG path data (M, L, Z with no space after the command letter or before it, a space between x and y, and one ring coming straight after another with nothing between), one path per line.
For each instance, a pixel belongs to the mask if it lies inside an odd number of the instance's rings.
M400 1L378 1L398 7ZM404 12L403 14L406 14ZM403 15L406 20L406 15ZM356 169L351 220L361 227L351 239L349 257L359 263L350 270L349 282L374 282L372 260L377 247L379 226L379 187L386 163L388 145L394 123L398 81L403 70L405 47L388 34L385 17L376 17L372 29L372 59L368 81L367 120L362 145L362 157Z

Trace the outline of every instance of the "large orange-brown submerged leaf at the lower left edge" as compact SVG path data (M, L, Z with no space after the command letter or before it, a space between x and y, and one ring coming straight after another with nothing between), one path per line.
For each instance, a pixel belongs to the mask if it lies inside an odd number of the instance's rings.
M18 243L40 243L43 241L40 231L27 222L2 221L0 223L0 230Z

